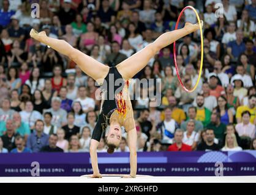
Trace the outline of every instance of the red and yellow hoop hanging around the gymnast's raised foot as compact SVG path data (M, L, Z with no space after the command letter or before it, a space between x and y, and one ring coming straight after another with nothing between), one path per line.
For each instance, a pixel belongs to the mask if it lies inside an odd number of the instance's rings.
M199 71L199 74L198 74L198 79L197 79L197 83L195 83L195 86L194 88L192 88L192 90L188 90L184 85L183 85L183 82L181 81L181 77L179 76L179 69L178 69L178 65L177 65L177 62L176 62L176 41L173 43L173 60L174 60L174 63L175 63L175 69L176 69L176 73L177 73L177 76L178 76L178 79L179 79L179 83L181 83L181 86L183 87L183 89L189 93L191 93L192 91L194 91L196 88L197 88L197 85L200 81L200 78L201 78L201 71L203 69L203 31L202 31L202 27L201 27L201 21L200 21L200 18L198 16L198 13L197 11L194 9L194 7L192 6L186 6L184 7L184 9L181 11L181 13L179 14L179 18L176 22L176 26L175 26L175 30L178 29L178 24L179 24L179 19L181 19L181 16L183 15L183 12L186 10L186 9L192 9L194 12L195 12L195 15L197 16L197 21L198 21L198 24L199 24L199 27L200 27L200 37L201 37L201 65L200 65L200 71Z

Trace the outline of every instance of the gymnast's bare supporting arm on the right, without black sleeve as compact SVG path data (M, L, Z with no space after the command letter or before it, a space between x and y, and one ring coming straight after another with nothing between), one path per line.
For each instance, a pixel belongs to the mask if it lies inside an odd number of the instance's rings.
M130 150L130 177L136 177L137 173L137 131L136 129L127 132L128 146Z

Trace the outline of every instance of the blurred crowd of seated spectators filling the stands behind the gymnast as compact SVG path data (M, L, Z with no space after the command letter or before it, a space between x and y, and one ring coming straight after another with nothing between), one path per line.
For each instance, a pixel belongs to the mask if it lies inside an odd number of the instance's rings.
M33 2L39 7L31 10ZM255 150L256 0L0 0L0 153L89 152L99 114L95 80L29 37L31 28L113 66L174 30L186 5L204 21L200 82L192 93L183 90L173 45L149 60L130 83L131 97L141 93L132 100L137 151ZM31 15L36 9L39 18ZM197 23L193 10L178 27L186 22ZM199 30L176 45L179 74L192 88ZM155 82L142 88L137 79ZM161 105L144 92L160 93ZM116 151L129 152L123 131ZM104 137L97 151L107 152Z

